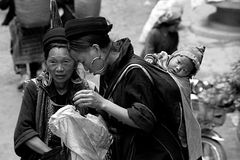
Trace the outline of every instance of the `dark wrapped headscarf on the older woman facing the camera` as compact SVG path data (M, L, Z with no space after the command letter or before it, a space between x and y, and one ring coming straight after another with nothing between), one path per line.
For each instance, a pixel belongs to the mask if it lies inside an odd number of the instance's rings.
M53 44L67 46L68 40L66 39L65 29L63 27L51 28L44 35L43 51L45 59L47 59L50 49L54 47Z

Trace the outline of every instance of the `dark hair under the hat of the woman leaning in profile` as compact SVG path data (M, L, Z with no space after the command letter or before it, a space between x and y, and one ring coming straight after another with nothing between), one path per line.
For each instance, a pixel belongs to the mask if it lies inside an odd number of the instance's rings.
M110 43L110 38L108 34L88 34L76 40L71 40L69 42L70 49L82 50L87 49L93 44L98 44L100 48L105 48Z

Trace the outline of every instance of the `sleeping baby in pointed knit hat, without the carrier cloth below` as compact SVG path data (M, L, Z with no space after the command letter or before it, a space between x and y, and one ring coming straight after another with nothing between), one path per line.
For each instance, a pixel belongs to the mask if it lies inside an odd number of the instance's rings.
M177 50L172 55L168 55L164 51L147 54L144 59L175 76L191 78L199 70L204 51L204 46L190 46L184 50Z

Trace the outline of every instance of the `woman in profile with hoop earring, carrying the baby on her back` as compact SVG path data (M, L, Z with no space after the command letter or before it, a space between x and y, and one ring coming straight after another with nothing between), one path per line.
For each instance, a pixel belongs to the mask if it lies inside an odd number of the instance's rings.
M114 135L108 159L188 159L187 147L180 145L180 137L186 137L179 131L184 122L177 84L166 72L158 71L165 95L159 94L139 67L121 78L132 62L139 62L148 71L156 68L134 54L128 38L110 40L111 28L104 17L73 19L65 25L72 57L91 73L100 74L100 94L86 89L78 91L74 104L95 108L108 123ZM159 126L165 126L167 132Z

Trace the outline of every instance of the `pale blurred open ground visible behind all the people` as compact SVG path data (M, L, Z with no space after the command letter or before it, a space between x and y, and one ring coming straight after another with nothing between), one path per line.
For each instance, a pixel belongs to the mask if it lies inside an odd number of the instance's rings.
M151 1L151 0L150 0ZM113 39L129 37L135 47L136 54L140 53L142 45L138 38L141 29L156 0L144 5L145 0L102 0L101 15L113 23L111 37ZM183 29L180 31L182 47L191 43L203 43L207 50L203 59L201 71L197 77L211 80L217 74L229 71L230 64L240 58L240 42L224 39L209 39L195 35L189 30L192 23L213 12L212 6L201 6L192 11L186 3L183 16ZM0 12L2 21L5 12ZM21 105L21 93L17 92L17 83L20 80L13 72L12 59L9 54L9 32L7 27L0 27L0 160L19 159L13 151L13 132ZM224 126L217 128L223 136L224 148L229 160L239 160L240 143L236 138L235 127L228 116Z

